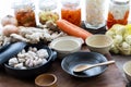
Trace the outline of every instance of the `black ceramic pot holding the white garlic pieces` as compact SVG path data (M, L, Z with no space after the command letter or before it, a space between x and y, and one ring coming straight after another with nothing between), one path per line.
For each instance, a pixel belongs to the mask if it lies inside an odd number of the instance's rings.
M29 67L26 70L20 70L20 69L12 67L8 64L8 62L5 62L4 69L8 74L19 77L19 78L33 78L41 73L47 72L47 70L50 67L52 61L57 58L57 52L52 51L50 48L48 48L47 46L45 46L43 44L27 45L24 49L26 50L26 49L28 49L28 47L36 47L37 49L47 49L47 51L49 53L49 58L47 60L48 62L43 65Z

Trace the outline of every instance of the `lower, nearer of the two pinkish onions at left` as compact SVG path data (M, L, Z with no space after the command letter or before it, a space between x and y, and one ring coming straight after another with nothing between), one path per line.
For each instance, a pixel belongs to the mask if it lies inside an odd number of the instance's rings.
M19 28L14 25L5 25L3 27L3 35L9 37L11 34L19 34Z

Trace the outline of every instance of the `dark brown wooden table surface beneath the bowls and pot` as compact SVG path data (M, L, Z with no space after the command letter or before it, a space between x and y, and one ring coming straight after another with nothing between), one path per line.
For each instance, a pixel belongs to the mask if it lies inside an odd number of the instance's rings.
M104 28L102 28L102 30L99 32L105 32ZM95 32L95 34L99 32ZM116 60L116 64L109 65L103 74L92 78L76 78L70 76L61 69L61 60L56 60L47 73L57 75L58 87L126 87L127 79L122 71L122 65L131 59L124 55L112 55L111 59ZM35 84L34 79L17 79L9 76L1 70L0 87L35 87Z

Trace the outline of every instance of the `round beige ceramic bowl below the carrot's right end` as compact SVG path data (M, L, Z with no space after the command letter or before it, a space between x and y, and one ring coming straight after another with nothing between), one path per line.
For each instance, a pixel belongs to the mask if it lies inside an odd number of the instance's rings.
M91 51L103 54L109 53L112 42L112 39L106 35L93 35L85 39L85 44Z

